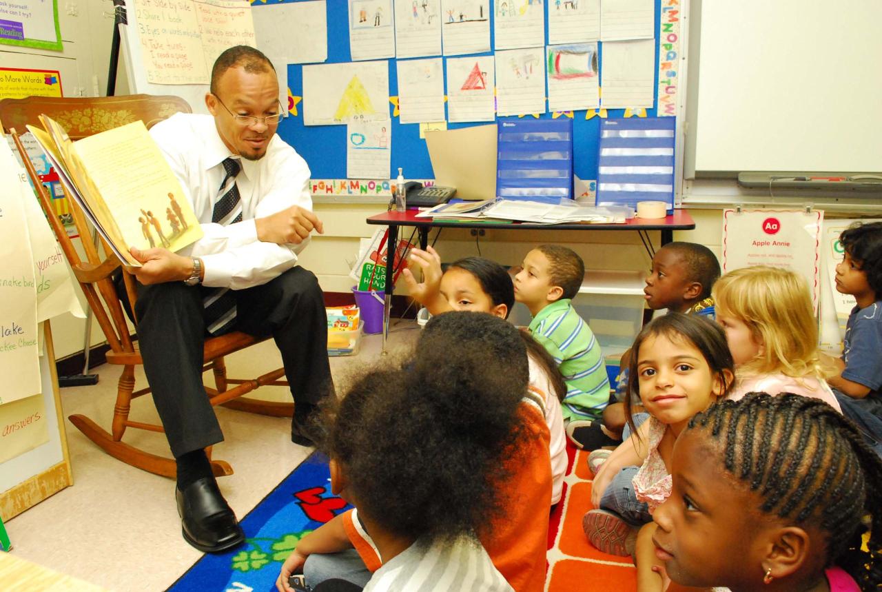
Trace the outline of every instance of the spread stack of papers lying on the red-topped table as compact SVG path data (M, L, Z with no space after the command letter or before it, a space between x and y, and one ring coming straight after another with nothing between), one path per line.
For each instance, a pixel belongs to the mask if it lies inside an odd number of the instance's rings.
M579 206L566 203L546 204L512 199L486 199L479 202L449 203L416 214L417 218L434 220L479 219L532 222L534 224L624 224L633 218L630 207Z

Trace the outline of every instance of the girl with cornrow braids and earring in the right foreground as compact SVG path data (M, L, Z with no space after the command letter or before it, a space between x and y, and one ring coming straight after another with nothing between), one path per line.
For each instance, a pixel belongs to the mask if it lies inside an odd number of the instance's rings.
M653 514L670 580L733 592L882 589L882 461L826 403L793 393L718 402L677 438L671 474Z

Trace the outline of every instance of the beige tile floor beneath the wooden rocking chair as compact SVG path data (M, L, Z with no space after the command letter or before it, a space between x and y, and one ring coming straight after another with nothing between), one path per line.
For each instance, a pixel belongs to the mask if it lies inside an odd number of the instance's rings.
M392 356L414 341L416 329L413 321L393 319ZM381 340L380 335L364 336L357 356L331 358L338 388L345 384L349 368L377 363ZM273 341L265 341L229 357L228 376L253 376L280 365ZM120 369L105 364L94 371L100 375L97 386L62 389L63 413L65 417L74 413L90 416L109 430ZM143 373L136 379L136 388L146 384ZM284 387L265 386L258 393L261 398L290 401ZM221 478L221 491L242 517L288 476L310 449L291 443L287 419L225 408L219 408L217 415L227 440L214 447L213 456L228 461L235 471ZM131 416L158 422L149 397L133 402ZM201 556L181 537L174 482L116 461L70 422L65 427L74 484L6 524L12 553L102 588L168 588ZM169 454L161 434L132 430L125 440L153 453Z

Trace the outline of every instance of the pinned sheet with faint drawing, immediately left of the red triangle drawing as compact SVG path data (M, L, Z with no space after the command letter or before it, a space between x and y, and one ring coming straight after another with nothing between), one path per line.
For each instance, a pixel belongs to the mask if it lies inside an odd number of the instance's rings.
M444 70L440 57L398 63L402 124L444 121Z

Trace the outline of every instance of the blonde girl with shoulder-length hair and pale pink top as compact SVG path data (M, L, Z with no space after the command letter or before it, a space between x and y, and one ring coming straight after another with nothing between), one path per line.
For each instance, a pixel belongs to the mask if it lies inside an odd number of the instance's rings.
M714 284L716 319L736 367L729 400L744 394L796 393L825 401L841 412L818 356L818 326L809 287L789 269L752 266Z

